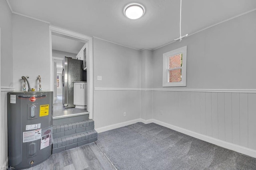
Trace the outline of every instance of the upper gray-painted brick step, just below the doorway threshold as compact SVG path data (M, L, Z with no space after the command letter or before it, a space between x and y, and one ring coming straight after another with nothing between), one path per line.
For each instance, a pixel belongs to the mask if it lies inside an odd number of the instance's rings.
M85 132L94 129L94 120L78 121L74 123L66 123L63 125L53 125L52 137L58 138L75 133Z

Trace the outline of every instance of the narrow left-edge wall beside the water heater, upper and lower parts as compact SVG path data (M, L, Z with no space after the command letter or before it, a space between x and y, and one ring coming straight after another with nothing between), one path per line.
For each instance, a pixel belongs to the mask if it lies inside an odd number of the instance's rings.
M13 86L12 12L5 0L0 1L1 28L1 104L0 104L0 166L8 163L7 91ZM5 87L5 90L3 89Z

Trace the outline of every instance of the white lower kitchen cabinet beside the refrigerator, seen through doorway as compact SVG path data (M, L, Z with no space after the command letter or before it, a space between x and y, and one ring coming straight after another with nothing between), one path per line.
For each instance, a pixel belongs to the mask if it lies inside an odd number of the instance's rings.
M86 109L87 106L87 83L75 82L74 83L74 105L76 108Z

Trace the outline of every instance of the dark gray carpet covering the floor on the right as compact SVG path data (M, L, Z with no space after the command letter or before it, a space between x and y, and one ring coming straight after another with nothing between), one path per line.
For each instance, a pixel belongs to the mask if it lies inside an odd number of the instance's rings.
M119 170L256 170L256 158L155 123L99 133L96 144Z

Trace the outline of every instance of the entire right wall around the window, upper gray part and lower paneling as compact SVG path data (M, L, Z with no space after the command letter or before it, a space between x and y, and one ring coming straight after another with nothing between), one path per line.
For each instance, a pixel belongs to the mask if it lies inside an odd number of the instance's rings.
M153 51L154 119L256 150L256 94L204 92L256 89L255 18L256 11ZM185 45L187 86L177 87L178 92L160 91L176 89L162 87L162 54ZM190 92L192 89L202 92Z

